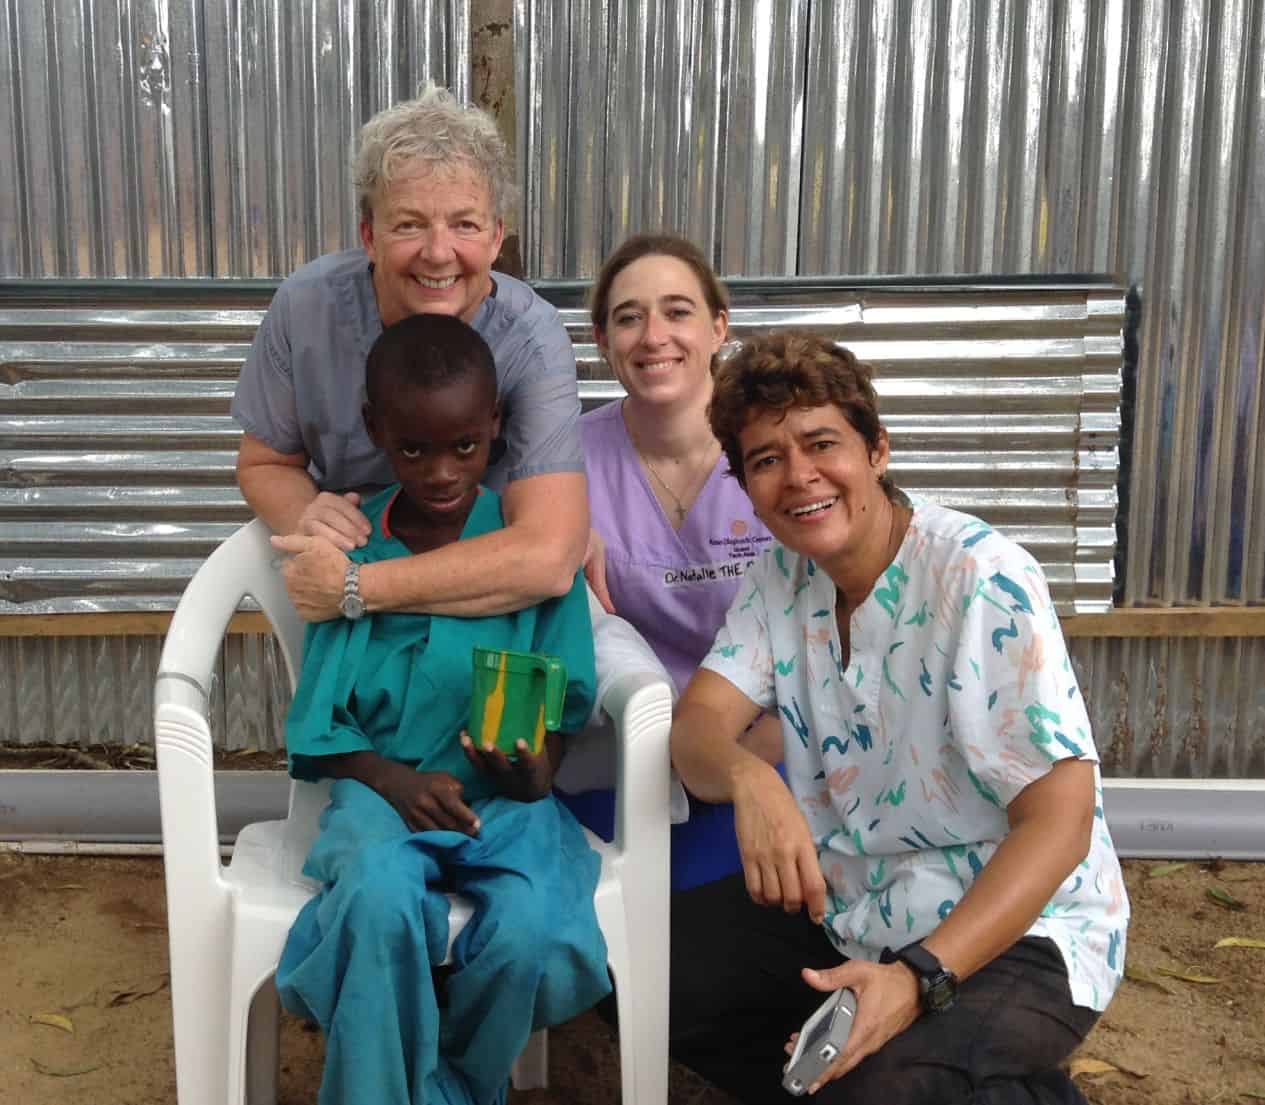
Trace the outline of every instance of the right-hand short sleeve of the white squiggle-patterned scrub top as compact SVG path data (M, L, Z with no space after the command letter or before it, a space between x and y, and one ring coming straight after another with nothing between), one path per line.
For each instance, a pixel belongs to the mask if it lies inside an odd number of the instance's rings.
M1056 761L1098 752L1040 565L999 535L990 544L961 595L949 718L975 788L1004 808Z

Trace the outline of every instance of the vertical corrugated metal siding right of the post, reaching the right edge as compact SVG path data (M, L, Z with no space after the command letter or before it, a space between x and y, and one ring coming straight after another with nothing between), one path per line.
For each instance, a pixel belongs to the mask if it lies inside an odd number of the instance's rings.
M1265 602L1265 0L517 16L533 276L658 226L746 276L1120 273L1144 296L1123 601Z

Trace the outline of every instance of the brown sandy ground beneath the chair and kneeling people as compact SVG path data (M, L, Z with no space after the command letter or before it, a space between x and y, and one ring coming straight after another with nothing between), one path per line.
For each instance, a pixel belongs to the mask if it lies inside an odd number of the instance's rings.
M1265 949L1214 947L1265 941L1265 865L1136 861L1126 875L1132 977L1074 1057L1117 1070L1078 1073L1085 1095L1095 1105L1265 1101ZM159 861L0 855L0 1101L176 1100ZM282 1053L281 1105L315 1102L319 1033L287 1022ZM617 1047L586 1014L550 1035L549 1090L511 1102L617 1096ZM729 1099L674 1068L670 1101Z

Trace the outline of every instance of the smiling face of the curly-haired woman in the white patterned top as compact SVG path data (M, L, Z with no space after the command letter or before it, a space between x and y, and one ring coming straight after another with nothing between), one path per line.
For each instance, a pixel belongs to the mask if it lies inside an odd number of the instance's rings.
M773 536L830 570L855 560L888 520L879 477L891 458L885 431L870 450L834 403L756 411L739 432L743 475Z

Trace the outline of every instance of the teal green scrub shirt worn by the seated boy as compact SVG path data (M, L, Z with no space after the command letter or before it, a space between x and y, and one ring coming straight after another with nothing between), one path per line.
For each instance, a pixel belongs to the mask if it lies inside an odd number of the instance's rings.
M373 526L368 544L350 552L372 564L411 556L385 532L383 516L398 484L364 504ZM460 540L502 528L500 497L481 491ZM462 751L476 645L544 652L567 668L562 730L583 728L593 707L593 630L588 597L577 573L562 598L509 614L454 618L439 614L374 613L358 621L334 618L307 627L295 700L286 718L290 774L320 779L321 756L373 751L419 771L448 771L472 802L495 793Z

